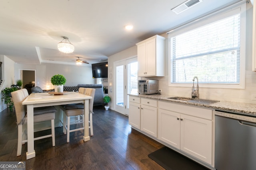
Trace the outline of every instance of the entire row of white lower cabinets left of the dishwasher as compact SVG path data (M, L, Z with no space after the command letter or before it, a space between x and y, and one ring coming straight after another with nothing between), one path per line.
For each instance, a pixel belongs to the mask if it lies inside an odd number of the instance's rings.
M133 96L129 101L131 126L212 165L211 109Z

